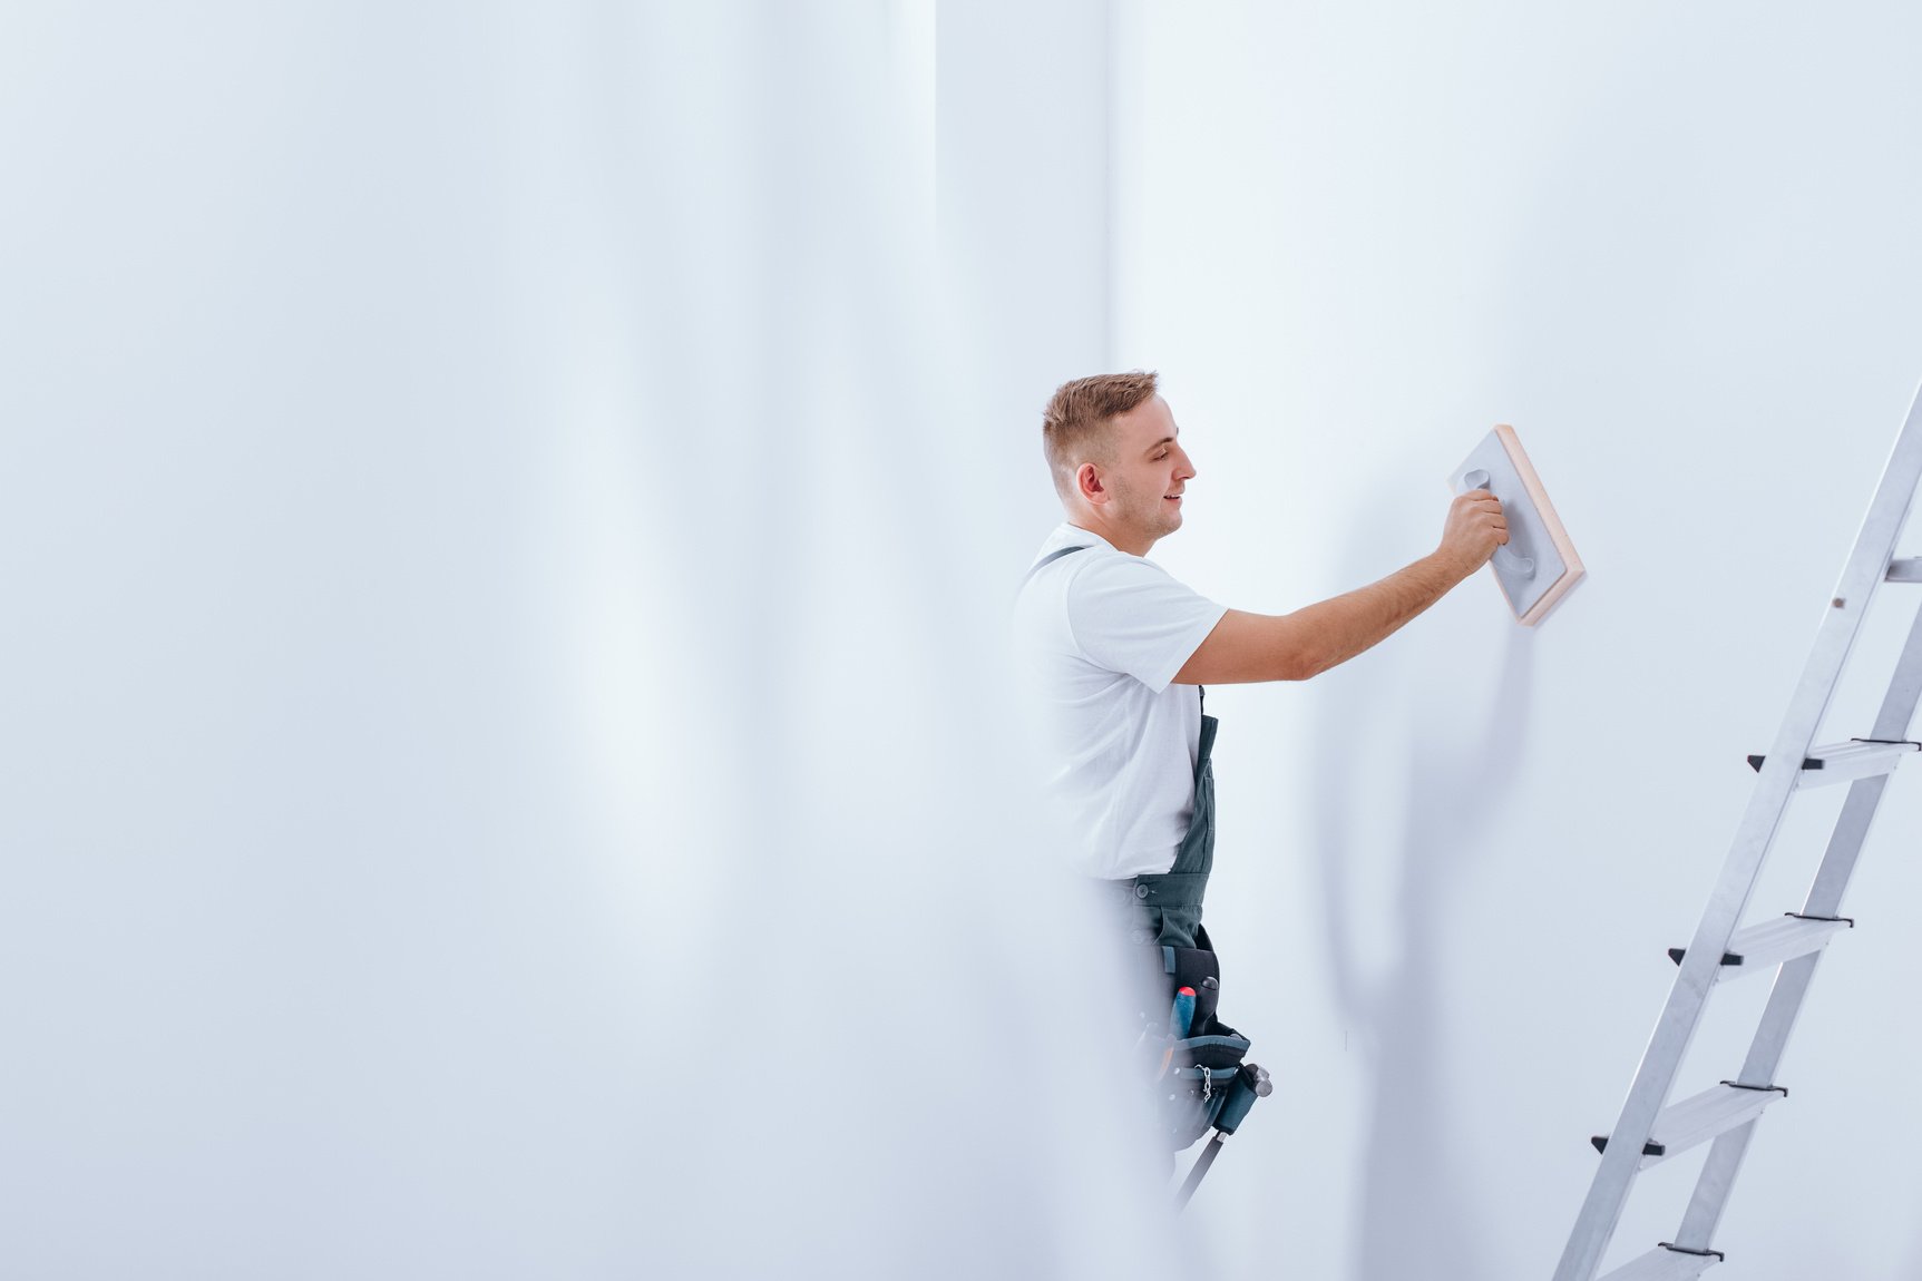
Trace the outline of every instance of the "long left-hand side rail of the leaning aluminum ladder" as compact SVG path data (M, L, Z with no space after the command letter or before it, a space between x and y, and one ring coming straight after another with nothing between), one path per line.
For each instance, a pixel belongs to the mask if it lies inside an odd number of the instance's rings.
M1749 795L1749 807L1736 830L1701 926L1697 926L1695 939L1682 958L1682 970L1676 974L1668 1003L1663 1006L1655 1033L1636 1068L1636 1079L1628 1087L1620 1118L1609 1131L1609 1147L1601 1154L1601 1166L1589 1183L1574 1231L1568 1235L1568 1245L1555 1268L1555 1281L1593 1281L1601 1268L1601 1256L1622 1220L1622 1206L1639 1168L1641 1145L1653 1133L1655 1118L1666 1106L1674 1077L1682 1070L1682 1058L1695 1039L1701 1006L1714 983L1714 970L1720 966L1722 953L1728 951L1728 941L1734 937L1749 893L1755 889L1755 878L1768 857L1776 830L1782 826L1787 799L1801 774L1801 762L1814 743L1822 714L1836 693L1836 682L1855 647L1855 638L1860 634L1868 601L1895 559L1895 540L1901 538L1909 520L1918 480L1922 480L1922 388L1916 390L1909 405L1909 417L1895 438L1868 515L1862 519L1855 547L1843 565L1834 603L1824 611L1801 682L1789 699L1782 730L1768 751L1755 791Z

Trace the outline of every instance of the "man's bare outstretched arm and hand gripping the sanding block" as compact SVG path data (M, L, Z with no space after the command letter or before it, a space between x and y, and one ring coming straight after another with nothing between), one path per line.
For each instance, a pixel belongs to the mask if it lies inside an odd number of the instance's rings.
M1455 499L1442 545L1380 582L1292 615L1230 609L1174 674L1180 686L1307 680L1395 634L1509 542L1501 503L1488 490Z

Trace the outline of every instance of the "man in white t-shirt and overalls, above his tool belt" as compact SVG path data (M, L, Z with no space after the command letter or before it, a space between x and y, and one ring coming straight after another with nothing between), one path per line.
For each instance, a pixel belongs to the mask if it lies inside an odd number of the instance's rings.
M1051 787L1076 864L1107 883L1132 939L1207 951L1215 718L1201 686L1307 680L1353 659L1480 568L1509 526L1486 490L1463 494L1440 547L1407 568L1290 615L1244 613L1146 559L1182 526L1195 476L1153 373L1063 384L1042 440L1067 520L1023 582L1015 628L1055 734Z

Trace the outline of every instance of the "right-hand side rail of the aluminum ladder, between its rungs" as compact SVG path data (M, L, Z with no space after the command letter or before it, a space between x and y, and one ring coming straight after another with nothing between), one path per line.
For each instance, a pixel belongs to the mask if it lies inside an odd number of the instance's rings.
M1901 659L1895 665L1895 678L1889 682L1889 691L1876 713L1876 726L1870 737L1903 737L1909 732L1910 720L1914 720L1918 703L1922 703L1922 609L1916 609L1909 640L1903 643ZM1882 793L1887 789L1887 784L1889 776L1878 774L1874 778L1859 778L1849 786L1849 795L1841 805L1828 851L1822 855L1822 866L1816 870L1809 901L1803 905L1803 916L1841 914L1841 897L1849 887L1849 878L1855 874L1862 845L1868 841L1868 830L1882 807ZM1776 974L1776 985L1768 993L1768 1006L1762 1010L1762 1020L1755 1029L1749 1056L1741 1064L1739 1081L1747 1085L1776 1083L1782 1054L1787 1051L1789 1033L1795 1029L1795 1020L1809 995L1809 983L1814 981L1814 966L1820 958L1822 953L1797 956ZM1728 1208L1728 1193L1741 1172L1741 1158L1749 1150L1753 1133L1755 1122L1749 1122L1716 1137L1709 1148L1709 1160L1703 1162L1701 1175L1695 1179L1695 1193L1689 1196L1688 1212L1682 1216L1676 1245L1691 1250L1709 1248L1714 1229L1722 1221L1722 1212Z

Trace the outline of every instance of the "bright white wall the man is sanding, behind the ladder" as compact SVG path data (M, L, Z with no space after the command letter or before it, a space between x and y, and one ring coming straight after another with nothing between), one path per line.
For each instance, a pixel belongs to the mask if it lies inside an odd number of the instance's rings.
M1545 1277L1922 378L1922 15L1124 13L1113 363L1161 369L1199 467L1157 557L1245 609L1357 586L1505 421L1591 574L1540 634L1476 580L1311 686L1211 693L1226 1008L1282 1093L1195 1210L1234 1277ZM1799 906L1828 799L1757 916ZM1922 1273L1918 832L1897 776L1730 1275ZM1762 995L1716 999L1684 1091ZM1641 1179L1618 1252L1672 1235L1695 1164Z

